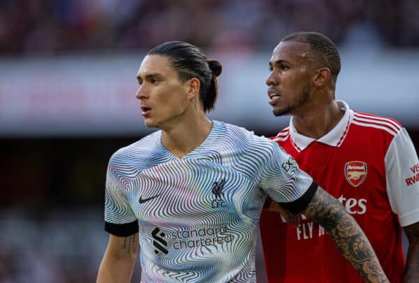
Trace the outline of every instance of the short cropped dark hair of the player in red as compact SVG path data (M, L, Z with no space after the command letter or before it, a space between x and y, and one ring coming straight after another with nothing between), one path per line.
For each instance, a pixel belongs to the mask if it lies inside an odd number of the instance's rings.
M318 63L330 69L332 78L336 82L341 68L341 61L336 45L330 38L314 31L300 31L285 36L280 42L282 41L309 43L310 50L314 53L315 59Z

